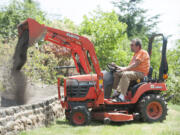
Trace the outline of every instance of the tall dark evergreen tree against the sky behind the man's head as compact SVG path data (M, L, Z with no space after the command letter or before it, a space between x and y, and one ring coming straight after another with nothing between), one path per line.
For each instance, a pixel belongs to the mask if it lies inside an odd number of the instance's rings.
M147 17L147 10L141 7L142 0L117 0L113 4L119 9L119 21L127 24L129 38L140 37L147 41L147 35L154 32L159 15Z

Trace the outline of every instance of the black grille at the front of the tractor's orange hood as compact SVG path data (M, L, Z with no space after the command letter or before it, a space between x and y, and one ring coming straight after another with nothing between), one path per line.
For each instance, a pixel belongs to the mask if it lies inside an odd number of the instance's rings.
M85 97L89 91L89 88L94 87L95 82L69 79L67 80L66 84L68 97Z

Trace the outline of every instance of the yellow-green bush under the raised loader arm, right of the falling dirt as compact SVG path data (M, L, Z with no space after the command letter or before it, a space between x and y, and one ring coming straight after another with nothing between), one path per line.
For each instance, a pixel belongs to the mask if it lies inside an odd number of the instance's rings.
M57 71L54 68L58 65L58 60L53 54L41 53L36 48L30 48L28 55L24 67L27 76L34 81L39 80L46 84L53 84L57 81Z

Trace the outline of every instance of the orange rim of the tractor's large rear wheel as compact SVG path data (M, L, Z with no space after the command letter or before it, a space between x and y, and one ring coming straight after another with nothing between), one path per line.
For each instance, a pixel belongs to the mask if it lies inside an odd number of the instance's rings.
M151 119L158 119L163 113L162 105L159 102L151 102L147 106L147 115Z

